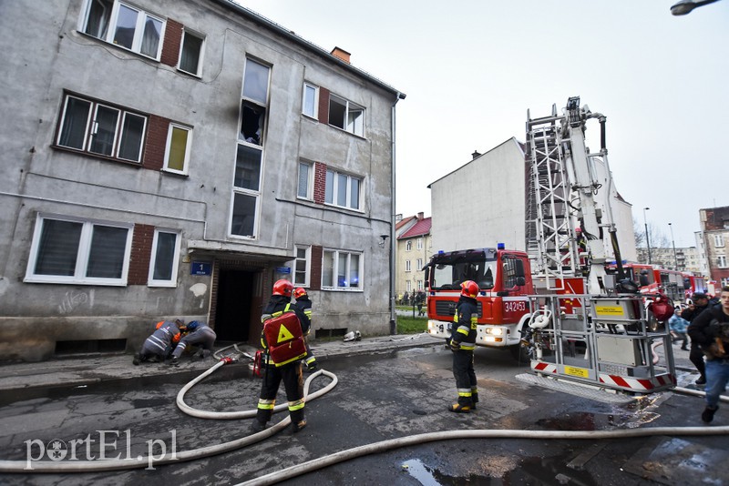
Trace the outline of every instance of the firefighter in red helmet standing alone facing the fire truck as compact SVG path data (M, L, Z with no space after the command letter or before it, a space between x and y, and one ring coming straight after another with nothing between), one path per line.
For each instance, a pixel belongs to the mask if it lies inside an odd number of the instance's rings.
M461 297L456 305L448 346L453 351L453 376L458 391L457 403L448 410L470 413L476 410L478 388L473 369L473 350L476 348L478 284L473 280L461 283Z

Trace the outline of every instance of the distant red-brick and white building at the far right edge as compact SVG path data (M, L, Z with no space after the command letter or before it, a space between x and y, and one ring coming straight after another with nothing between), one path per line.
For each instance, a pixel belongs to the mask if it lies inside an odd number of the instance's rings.
M729 206L699 209L699 219L708 274L721 286L729 285Z

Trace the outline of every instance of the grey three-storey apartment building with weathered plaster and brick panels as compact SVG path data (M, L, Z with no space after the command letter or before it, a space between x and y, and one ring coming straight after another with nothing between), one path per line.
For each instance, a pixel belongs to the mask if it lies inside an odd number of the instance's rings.
M0 46L3 359L256 343L277 278L388 332L404 94L228 0L4 2Z

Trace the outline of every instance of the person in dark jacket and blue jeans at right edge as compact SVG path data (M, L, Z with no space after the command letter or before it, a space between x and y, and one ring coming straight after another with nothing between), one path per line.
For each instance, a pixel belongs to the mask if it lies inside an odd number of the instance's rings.
M706 355L706 408L701 420L714 420L719 398L729 382L729 287L722 288L719 304L709 307L689 324L691 342Z

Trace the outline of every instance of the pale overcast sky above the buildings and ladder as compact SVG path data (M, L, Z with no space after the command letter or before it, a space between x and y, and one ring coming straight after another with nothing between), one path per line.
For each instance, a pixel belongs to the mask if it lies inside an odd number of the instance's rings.
M430 216L427 186L475 150L524 142L528 109L561 113L570 96L607 116L615 186L652 241L673 228L677 248L695 246L699 209L729 206L729 0L683 16L670 13L677 0L237 1L406 94L395 136L405 217Z

